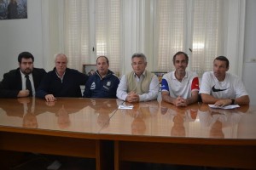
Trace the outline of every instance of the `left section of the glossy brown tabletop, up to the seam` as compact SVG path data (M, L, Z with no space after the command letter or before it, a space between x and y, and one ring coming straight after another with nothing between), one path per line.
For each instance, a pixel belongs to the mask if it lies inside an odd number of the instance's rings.
M116 99L0 99L0 125L99 133L117 109Z

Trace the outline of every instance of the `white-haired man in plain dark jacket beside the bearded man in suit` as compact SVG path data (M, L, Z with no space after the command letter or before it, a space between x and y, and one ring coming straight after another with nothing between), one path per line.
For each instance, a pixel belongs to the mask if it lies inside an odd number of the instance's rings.
M65 54L55 55L55 68L47 73L38 87L38 98L55 101L55 97L82 97L80 85L84 85L88 76L67 68L67 62Z

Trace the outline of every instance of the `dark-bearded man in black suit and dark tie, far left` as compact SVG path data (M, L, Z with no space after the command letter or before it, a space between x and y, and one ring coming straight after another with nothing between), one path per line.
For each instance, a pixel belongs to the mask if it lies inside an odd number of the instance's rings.
M35 92L46 74L44 69L33 67L34 57L29 52L20 53L18 61L20 68L3 75L3 81L0 82L1 98L35 96ZM28 81L30 81L29 87L26 83Z

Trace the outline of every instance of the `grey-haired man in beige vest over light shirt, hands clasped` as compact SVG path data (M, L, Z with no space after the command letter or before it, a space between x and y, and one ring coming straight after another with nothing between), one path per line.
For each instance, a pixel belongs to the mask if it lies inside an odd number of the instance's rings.
M156 99L159 80L153 73L146 70L146 56L142 53L133 54L131 66L133 71L120 80L117 97L131 103Z

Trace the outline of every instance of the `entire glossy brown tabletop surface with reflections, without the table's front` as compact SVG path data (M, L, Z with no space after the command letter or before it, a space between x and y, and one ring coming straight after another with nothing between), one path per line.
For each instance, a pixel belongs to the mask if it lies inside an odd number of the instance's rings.
M119 99L0 99L0 125L88 133L190 138L255 138L254 107L176 107L157 100L119 110ZM250 132L250 133L249 133Z

